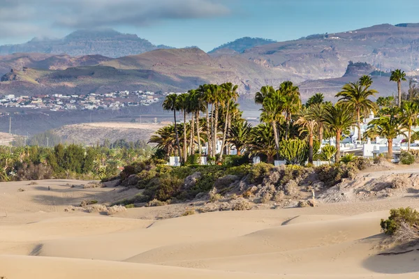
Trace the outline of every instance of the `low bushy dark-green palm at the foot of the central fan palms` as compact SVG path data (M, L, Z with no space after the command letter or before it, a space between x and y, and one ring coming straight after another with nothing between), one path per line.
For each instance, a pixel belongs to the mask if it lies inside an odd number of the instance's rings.
M278 153L273 137L274 129L270 124L261 123L251 130L249 151L251 155L266 155L267 163L273 163L275 154Z

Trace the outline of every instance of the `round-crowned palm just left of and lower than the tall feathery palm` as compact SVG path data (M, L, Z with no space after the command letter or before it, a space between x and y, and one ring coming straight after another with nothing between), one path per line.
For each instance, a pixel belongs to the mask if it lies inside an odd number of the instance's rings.
M336 154L335 162L339 162L340 158L340 140L341 135L349 127L356 123L353 117L353 109L345 104L336 104L325 108L323 121L328 124L330 130L336 134Z

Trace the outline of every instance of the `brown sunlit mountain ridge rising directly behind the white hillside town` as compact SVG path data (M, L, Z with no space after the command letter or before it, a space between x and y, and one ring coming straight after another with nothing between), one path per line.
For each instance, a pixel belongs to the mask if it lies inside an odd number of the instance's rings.
M50 57L54 61L55 56ZM75 61L78 61L78 57ZM46 59L42 60L42 63ZM34 65L41 61L30 62ZM1 63L0 63L1 65ZM105 93L116 90L187 91L205 83L233 82L241 93L265 84L279 84L291 76L241 57L212 57L198 48L153 50L95 66L63 69L22 67L3 75L0 94Z

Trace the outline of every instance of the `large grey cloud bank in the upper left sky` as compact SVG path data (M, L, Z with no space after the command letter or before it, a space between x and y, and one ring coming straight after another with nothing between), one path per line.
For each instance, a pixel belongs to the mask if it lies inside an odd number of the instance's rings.
M221 0L0 0L2 36L47 35L53 29L131 26L165 20L220 17L230 13ZM20 28L24 26L25 28Z

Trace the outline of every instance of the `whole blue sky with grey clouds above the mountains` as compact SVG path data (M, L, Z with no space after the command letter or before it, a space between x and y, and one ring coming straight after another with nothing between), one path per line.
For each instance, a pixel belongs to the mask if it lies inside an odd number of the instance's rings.
M417 0L0 0L0 7L0 44L112 27L156 45L209 51L244 36L293 40L419 22Z

